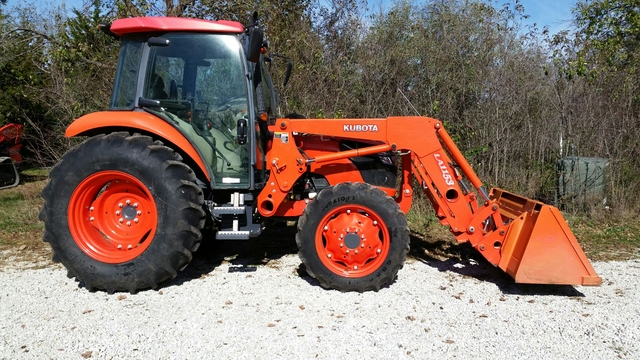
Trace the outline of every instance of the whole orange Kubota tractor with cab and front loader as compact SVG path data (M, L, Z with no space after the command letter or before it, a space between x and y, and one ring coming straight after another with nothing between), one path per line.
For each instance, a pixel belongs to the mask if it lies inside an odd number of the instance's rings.
M111 107L67 129L88 139L51 171L40 214L53 259L87 289L175 277L205 223L247 240L268 219L297 219L299 256L322 286L378 290L409 251L412 177L455 239L516 282L601 283L560 212L487 193L440 121L278 118L256 23L147 17L102 30L122 42Z

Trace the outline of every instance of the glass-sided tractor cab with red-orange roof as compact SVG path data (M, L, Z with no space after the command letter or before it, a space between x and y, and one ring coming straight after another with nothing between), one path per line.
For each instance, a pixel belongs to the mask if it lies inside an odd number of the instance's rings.
M178 129L205 163L212 189L260 188L266 126L259 117L276 116L262 33L235 22L150 19L109 29L122 33L110 110L144 111Z

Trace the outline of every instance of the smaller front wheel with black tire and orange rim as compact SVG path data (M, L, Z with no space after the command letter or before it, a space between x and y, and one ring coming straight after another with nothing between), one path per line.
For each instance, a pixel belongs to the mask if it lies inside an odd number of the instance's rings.
M382 190L343 183L321 191L298 221L299 256L325 288L379 290L391 283L409 252L409 226Z

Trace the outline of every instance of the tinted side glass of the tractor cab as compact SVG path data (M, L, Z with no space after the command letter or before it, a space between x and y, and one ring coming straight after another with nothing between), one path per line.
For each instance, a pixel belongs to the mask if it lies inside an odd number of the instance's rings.
M249 117L246 72L237 37L175 33L161 39L169 44L150 46L146 67L140 67L145 71L141 96L158 100L163 117L198 147L214 174L215 187L248 187L250 139L241 145L237 136L238 120ZM139 42L123 42L112 109L134 103L131 83L140 77L138 69L128 64L136 58L144 61L140 48Z

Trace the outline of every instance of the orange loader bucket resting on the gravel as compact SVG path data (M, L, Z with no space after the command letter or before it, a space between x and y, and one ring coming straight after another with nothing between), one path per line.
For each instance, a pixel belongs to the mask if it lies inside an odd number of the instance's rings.
M498 266L517 283L602 283L557 208L501 189L491 189L491 198L511 221Z

